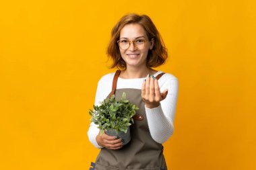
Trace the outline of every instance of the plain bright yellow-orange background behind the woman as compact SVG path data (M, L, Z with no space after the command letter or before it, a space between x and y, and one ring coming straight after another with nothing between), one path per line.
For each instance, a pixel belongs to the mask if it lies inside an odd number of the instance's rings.
M1 1L0 169L89 169L110 31L146 13L179 79L168 167L256 169L255 1ZM111 81L111 80L110 80Z

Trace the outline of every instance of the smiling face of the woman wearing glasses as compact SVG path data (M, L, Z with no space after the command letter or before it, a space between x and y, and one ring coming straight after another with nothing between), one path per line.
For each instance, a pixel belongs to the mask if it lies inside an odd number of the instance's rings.
M148 50L154 46L154 39L151 42L143 27L139 24L128 24L120 32L120 42L130 42L126 50L120 48L121 56L125 60L127 68L146 66ZM146 42L142 43L143 40ZM136 45L137 44L137 45ZM119 44L120 45L120 44Z

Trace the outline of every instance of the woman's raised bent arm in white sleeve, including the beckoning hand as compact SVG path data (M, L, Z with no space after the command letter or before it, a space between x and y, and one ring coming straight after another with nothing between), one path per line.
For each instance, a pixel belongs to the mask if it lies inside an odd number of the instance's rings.
M160 93L158 81L154 80L154 93L150 93L150 87L152 88L151 80L152 78L150 78L150 82L145 82L144 85L144 99L147 88L149 90L148 98L146 97L147 100L145 99L148 126L152 138L158 143L163 143L172 136L174 130L173 120L176 111L178 80L176 78L167 79L161 87L161 91L164 91L163 93Z

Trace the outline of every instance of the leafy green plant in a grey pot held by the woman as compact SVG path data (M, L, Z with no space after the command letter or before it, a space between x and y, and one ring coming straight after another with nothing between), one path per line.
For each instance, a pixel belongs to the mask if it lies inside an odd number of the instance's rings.
M98 125L100 135L105 132L109 136L119 136L124 140L124 145L131 140L129 126L134 123L132 117L139 108L126 99L125 92L121 99L116 100L115 95L111 95L110 99L100 101L100 105L93 108L89 112L92 116L90 121Z

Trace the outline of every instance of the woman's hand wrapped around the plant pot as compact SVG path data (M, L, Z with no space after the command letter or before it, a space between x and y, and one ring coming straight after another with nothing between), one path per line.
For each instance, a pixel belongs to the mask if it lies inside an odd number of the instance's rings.
M109 149L119 149L123 146L123 141L121 138L117 138L116 136L108 136L103 132L100 136L100 133L96 136L96 142L98 145L109 148Z

